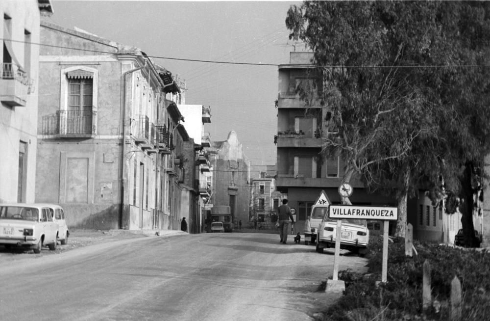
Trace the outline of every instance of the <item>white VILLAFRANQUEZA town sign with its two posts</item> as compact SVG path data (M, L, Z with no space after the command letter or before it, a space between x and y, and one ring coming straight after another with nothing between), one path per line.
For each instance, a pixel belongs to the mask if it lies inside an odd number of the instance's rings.
M340 190L340 189L339 189ZM383 220L383 262L381 282L387 281L389 221L398 218L398 209L388 206L330 205L328 216L337 219L333 281L338 281L342 219ZM328 281L327 281L328 287Z

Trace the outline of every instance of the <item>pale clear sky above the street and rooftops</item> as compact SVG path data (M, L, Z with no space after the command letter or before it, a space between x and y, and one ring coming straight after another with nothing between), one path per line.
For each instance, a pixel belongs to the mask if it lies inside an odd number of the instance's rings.
M51 22L138 47L155 63L186 80L186 104L211 108L211 123L204 131L212 141L226 140L234 130L252 165L275 164L277 65L289 63L289 53L298 48L289 40L285 19L289 7L300 2L51 3Z

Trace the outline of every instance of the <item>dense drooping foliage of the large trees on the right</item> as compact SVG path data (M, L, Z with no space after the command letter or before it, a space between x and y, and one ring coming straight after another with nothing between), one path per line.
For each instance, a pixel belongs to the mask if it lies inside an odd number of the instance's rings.
M481 178L490 152L489 2L305 1L286 26L314 52L338 129L324 152L347 176L399 200L445 187L471 202L465 168Z

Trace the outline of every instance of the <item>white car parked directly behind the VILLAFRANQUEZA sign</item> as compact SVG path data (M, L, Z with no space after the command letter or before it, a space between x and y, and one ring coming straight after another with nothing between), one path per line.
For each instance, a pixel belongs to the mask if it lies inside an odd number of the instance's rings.
M341 223L340 248L363 257L368 253L369 230L365 219L343 219ZM325 247L335 247L337 239L337 220L326 214L318 229L317 252L323 253Z

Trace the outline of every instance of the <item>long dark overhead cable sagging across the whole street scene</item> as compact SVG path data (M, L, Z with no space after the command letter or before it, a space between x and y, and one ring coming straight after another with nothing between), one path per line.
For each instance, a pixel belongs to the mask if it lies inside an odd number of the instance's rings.
M26 42L26 41L21 41L21 40L12 40L12 39L4 39L0 38L0 40L7 40L7 41L12 41L12 42L20 42L20 43L28 43L31 45L38 45L38 46L45 46L45 47L53 47L53 48L61 48L61 49L69 49L69 50L79 50L79 51L86 51L86 52L92 52L92 53L99 53L99 54L114 54L118 55L118 53L112 53L112 52L105 52L105 51L100 51L100 50L93 50L93 49L84 49L84 48L72 48L72 47L65 47L65 46L57 46L57 45L49 45L49 44L41 44L41 43L34 43L34 42ZM413 68L413 69L419 69L419 68L488 68L490 67L490 64L486 65L475 65L475 64L467 64L467 65L352 65L352 66L346 66L346 65L312 65L312 64L272 64L272 63L256 63L256 62L233 62L233 61L218 61L218 60L204 60L204 59L188 59L188 58L176 58L176 57L165 57L165 56L154 56L154 55L143 55L143 54L132 54L134 56L140 56L140 57L150 57L150 58L158 58L158 59L169 59L169 60L180 60L180 61L191 61L191 62L206 62L206 63L220 63L220 64L229 64L229 65L248 65L248 66L273 66L273 67L278 67L280 65L288 65L291 67L319 67L319 68L345 68L345 69L376 69L376 68L383 68L383 69L390 69L390 68Z

